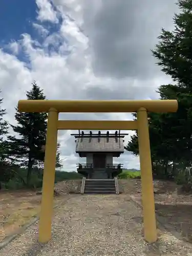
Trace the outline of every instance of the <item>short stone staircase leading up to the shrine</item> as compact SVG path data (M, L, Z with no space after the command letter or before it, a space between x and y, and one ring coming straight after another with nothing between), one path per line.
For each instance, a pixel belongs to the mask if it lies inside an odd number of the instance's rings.
M86 179L84 194L116 194L114 179Z

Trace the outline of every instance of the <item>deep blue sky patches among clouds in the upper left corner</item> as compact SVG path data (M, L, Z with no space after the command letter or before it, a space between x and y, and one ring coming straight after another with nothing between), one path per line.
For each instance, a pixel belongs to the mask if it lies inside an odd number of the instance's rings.
M54 6L53 6L54 7ZM38 41L40 44L43 41L42 36L39 35L37 29L33 24L44 26L48 30L48 35L56 32L60 26L60 19L58 23L50 23L47 20L40 22L38 19L38 7L35 0L2 0L0 9L0 47L4 48L5 52L10 53L10 49L6 46L13 41L22 39L23 34L29 34L33 40ZM58 50L59 44L50 45L48 52L54 49ZM35 48L36 46L33 45ZM19 52L18 59L30 63L24 52Z

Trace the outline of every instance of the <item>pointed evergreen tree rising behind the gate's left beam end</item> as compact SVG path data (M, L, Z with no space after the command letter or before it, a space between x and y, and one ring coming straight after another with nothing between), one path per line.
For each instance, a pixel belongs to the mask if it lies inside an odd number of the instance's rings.
M32 83L32 89L26 93L28 100L45 100L43 90ZM20 166L28 168L27 185L30 184L32 168L42 161L41 147L45 145L47 131L47 113L19 113L15 108L17 125L11 125L18 135L8 136L10 147L9 157L16 160Z

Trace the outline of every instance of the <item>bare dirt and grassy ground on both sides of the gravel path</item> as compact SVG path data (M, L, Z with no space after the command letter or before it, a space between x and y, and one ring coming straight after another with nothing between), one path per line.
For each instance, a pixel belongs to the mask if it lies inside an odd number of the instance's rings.
M72 184L71 184L72 183ZM69 191L79 192L80 181L60 182L56 186L60 196L55 197L55 203L68 197ZM141 202L140 180L119 180L120 191L124 199L129 195ZM69 189L70 187L70 189ZM172 226L181 236L192 243L192 195L180 193L180 187L173 182L155 181L156 212L162 216L164 223ZM70 195L69 195L70 196ZM0 242L19 227L28 223L38 215L41 196L36 191L3 191L0 193ZM173 254L174 255L174 254ZM190 254L192 255L192 254Z

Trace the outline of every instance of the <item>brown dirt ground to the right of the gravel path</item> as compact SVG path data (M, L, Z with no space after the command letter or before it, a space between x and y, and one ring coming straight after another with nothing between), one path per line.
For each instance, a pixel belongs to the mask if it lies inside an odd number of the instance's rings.
M120 181L122 191L132 194L132 198L141 204L141 182L132 180L127 186ZM192 243L192 194L181 192L181 186L170 181L154 181L155 209L165 225L177 231L188 242Z

